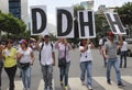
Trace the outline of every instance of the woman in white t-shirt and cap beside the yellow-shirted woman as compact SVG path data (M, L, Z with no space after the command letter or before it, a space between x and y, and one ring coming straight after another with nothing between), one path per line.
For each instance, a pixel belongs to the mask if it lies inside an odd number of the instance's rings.
M21 48L18 50L18 59L20 60L20 67L22 71L22 81L24 90L31 88L31 65L34 63L34 54L32 48L28 46L25 40L20 41Z

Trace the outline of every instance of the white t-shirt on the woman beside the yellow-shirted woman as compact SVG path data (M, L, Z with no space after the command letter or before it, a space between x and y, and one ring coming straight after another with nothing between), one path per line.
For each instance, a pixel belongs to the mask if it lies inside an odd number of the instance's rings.
M23 56L20 59L20 63L31 63L31 53L32 48L28 47L26 50L23 50L22 48L19 48L18 53L23 54Z

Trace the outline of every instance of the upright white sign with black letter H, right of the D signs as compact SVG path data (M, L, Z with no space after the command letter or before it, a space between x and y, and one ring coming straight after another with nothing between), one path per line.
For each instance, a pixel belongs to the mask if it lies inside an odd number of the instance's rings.
M95 15L92 10L78 11L79 38L96 37Z

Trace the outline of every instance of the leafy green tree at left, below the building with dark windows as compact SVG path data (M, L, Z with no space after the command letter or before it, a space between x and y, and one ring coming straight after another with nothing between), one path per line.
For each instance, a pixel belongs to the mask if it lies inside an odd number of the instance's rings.
M22 20L14 18L11 13L0 13L0 30L10 35L18 35L26 30Z

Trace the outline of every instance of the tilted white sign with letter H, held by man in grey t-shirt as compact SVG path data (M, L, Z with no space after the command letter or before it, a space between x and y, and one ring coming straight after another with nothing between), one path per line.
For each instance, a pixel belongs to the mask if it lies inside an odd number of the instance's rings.
M118 13L106 12L105 15L113 34L127 34Z

